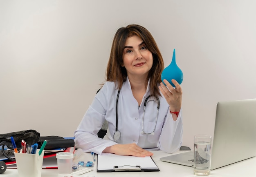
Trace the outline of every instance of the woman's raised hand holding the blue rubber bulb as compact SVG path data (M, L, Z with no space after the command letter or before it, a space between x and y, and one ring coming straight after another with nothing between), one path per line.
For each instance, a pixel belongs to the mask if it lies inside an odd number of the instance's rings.
M172 79L171 81L175 85L175 88L164 79L164 84L166 84L166 86L161 82L159 89L169 104L170 111L179 112L182 103L182 88L176 80Z

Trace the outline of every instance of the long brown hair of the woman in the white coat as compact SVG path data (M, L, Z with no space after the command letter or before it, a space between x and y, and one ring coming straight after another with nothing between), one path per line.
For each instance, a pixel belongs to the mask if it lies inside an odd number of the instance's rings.
M121 89L123 82L126 81L127 72L125 67L122 67L124 46L126 39L134 35L137 35L144 41L147 49L153 55L153 66L148 73L145 86L147 86L148 80L150 79L151 95L160 95L157 84L161 82L164 61L153 36L146 28L138 24L130 24L127 27L119 28L115 33L107 66L106 80L116 82L118 89Z

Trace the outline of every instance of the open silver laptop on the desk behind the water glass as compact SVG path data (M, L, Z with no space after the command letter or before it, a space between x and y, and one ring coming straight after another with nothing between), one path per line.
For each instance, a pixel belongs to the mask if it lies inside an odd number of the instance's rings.
M256 156L256 99L218 102L211 170ZM193 167L193 150L160 160Z

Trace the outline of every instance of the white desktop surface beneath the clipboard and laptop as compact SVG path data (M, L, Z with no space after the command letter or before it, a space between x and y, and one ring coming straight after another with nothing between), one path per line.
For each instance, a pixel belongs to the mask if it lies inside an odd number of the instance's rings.
M155 163L159 167L159 172L112 172L112 173L97 173L97 162L95 163L94 170L83 175L66 175L68 177L195 177L193 175L193 168L188 166L182 166L177 164L171 164L168 162L162 162L160 157L168 156L171 154L164 153L162 151L152 151L152 156ZM177 153L186 152L180 151ZM177 154L176 153L176 154ZM90 153L84 153L79 157L79 161L92 161L92 155ZM96 157L97 159L97 157ZM209 177L256 177L256 157L231 164L216 170L211 170ZM4 173L0 174L1 177L18 177L17 169L7 169ZM43 169L42 177L64 177L64 175L58 175L56 169Z

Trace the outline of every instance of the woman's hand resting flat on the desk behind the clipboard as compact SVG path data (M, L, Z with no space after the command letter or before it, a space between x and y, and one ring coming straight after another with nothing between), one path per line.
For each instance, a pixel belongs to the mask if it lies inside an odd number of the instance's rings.
M139 147L137 144L115 144L103 150L103 153L113 153L117 155L132 155L137 157L151 156L153 153Z

